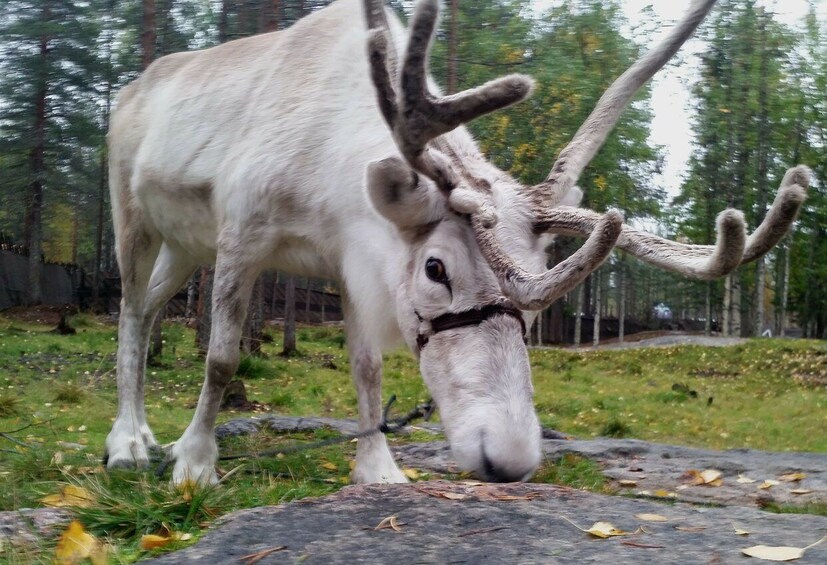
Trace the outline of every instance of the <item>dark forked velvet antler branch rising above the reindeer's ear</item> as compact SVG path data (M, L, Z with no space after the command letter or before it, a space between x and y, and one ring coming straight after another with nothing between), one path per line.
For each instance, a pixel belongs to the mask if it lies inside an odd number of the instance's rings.
M441 188L451 190L455 184L454 173L444 157L426 151L428 142L463 123L523 100L531 93L533 81L523 75L508 75L458 94L435 97L428 89L427 62L438 18L438 0L417 3L400 73L399 93L391 86L392 73L387 68L388 39L380 39L386 33L384 30L371 34L369 50L379 105L403 157Z

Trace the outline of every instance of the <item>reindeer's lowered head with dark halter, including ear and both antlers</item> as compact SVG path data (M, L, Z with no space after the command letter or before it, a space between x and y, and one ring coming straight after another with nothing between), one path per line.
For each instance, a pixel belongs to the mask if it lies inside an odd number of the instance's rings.
M540 461L526 324L533 312L580 284L615 245L660 267L698 278L722 276L766 253L786 233L804 198L806 168L785 177L764 223L749 238L743 215L718 218L714 246L684 245L625 226L619 213L576 208L574 186L621 112L692 34L714 4L696 0L653 51L606 91L546 181L525 187L486 161L458 126L530 95L510 75L439 97L428 86L428 49L438 0L420 0L399 72L381 2L367 1L369 58L379 108L398 154L371 163L376 209L408 244L398 292L400 326L418 352L454 456L489 480L523 480ZM398 74L398 76L396 76ZM586 237L571 257L546 268L549 234Z

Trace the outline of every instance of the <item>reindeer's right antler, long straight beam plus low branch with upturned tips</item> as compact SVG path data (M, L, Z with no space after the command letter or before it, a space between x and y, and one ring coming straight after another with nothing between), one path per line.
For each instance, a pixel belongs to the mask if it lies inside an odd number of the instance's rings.
M693 2L667 37L606 90L572 141L560 152L548 178L531 189L537 232L588 236L597 229L598 216L593 212L555 206L603 145L635 92L678 51L714 4L715 0ZM718 217L715 245L684 245L628 226L623 226L617 245L664 269L701 279L721 277L764 255L787 233L806 197L809 175L803 166L787 172L766 218L748 239L743 214L730 209Z

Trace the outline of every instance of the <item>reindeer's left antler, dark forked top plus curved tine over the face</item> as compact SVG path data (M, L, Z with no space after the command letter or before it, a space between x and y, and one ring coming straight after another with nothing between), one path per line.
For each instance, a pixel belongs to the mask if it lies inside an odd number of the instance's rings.
M386 22L383 25L381 18L375 16L375 2L367 1L366 4L368 22L381 25L370 33L369 59L382 115L405 160L442 190L454 191L452 206L459 207L459 212L471 214L477 242L505 295L520 308L536 309L580 284L611 252L620 235L620 214L610 212L600 219L586 244L566 261L542 274L529 273L503 252L493 231L491 206L471 198L471 191L458 189L459 176L448 157L428 147L431 141L474 118L525 99L531 94L532 79L524 75L508 75L451 96L434 96L428 89L427 61L439 16L439 2L421 0L411 18L410 38L397 93L393 74L388 70L392 62L388 61L390 46Z

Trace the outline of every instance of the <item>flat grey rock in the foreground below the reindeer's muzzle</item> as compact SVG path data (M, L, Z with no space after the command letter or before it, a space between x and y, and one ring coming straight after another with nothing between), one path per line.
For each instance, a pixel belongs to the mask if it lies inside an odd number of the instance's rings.
M635 517L640 513L668 521L646 522ZM389 516L396 516L400 532L374 529ZM584 528L609 521L638 533L595 539L563 517ZM738 536L734 526L751 533ZM747 563L742 548L804 547L825 531L827 518L819 516L667 505L552 485L430 481L352 486L321 499L237 512L193 547L149 562L243 563L245 555L286 546L258 563ZM796 563L827 563L827 544Z

